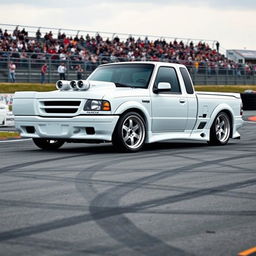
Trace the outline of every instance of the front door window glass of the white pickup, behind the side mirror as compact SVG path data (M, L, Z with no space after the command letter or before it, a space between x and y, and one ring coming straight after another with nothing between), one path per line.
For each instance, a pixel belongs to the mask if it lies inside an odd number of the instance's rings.
M160 67L156 76L156 81L154 86L160 82L167 82L171 84L171 90L164 93L181 93L179 80L176 71L172 67Z

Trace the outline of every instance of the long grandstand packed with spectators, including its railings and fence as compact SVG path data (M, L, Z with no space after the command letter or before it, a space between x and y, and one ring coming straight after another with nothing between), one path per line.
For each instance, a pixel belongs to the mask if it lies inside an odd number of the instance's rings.
M46 81L55 82L60 63L71 80L78 65L86 78L102 63L153 60L185 64L196 84L255 84L255 66L227 59L218 48L216 40L0 24L0 81L8 81L10 62L19 82L39 82L44 63Z

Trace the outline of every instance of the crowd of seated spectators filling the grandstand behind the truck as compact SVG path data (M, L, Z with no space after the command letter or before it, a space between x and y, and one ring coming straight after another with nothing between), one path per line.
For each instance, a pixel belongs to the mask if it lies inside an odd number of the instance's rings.
M220 44L210 47L208 43L190 41L166 41L165 39L149 40L130 36L121 40L118 36L112 39L103 39L100 34L67 36L59 31L57 37L52 31L42 35L40 29L35 35L29 35L23 28L17 26L12 33L0 28L0 59L10 54L12 58L27 59L29 56L35 60L67 60L90 63L93 70L99 63L152 60L167 61L185 64L194 68L196 72L204 69L208 74L220 70L234 71L239 75L240 70L247 74L255 72L255 66L246 64L242 67L228 60L219 52Z

